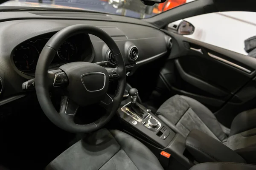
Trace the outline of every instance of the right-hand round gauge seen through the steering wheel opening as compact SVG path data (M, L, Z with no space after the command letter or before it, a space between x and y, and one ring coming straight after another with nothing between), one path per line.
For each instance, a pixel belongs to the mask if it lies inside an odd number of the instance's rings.
M71 42L65 41L58 49L57 54L63 61L69 62L73 56L76 55L76 45Z

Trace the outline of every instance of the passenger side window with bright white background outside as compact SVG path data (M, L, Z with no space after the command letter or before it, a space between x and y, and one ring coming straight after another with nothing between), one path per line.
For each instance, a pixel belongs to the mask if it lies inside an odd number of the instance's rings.
M183 36L256 57L255 18L256 12L242 11L198 15L182 20L194 26L192 34L183 34ZM180 22L170 23L168 30L175 30L174 27Z

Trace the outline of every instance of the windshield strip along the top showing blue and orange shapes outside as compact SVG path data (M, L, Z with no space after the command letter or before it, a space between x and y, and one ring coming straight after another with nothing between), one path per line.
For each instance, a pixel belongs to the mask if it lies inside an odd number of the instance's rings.
M145 6L140 0L9 0L0 6L69 8L148 18L191 1L193 0L166 0L165 3Z

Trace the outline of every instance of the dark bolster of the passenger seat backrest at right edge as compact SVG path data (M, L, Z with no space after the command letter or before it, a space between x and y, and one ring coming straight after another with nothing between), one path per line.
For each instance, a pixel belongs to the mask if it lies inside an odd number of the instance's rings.
M239 113L233 120L230 136L256 127L256 109Z

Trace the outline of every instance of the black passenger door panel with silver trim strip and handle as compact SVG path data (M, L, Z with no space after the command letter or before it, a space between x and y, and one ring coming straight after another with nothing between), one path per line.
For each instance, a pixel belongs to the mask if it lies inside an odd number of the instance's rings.
M165 32L173 40L172 52L160 72L166 89L203 103L228 127L237 113L254 107L255 58Z

